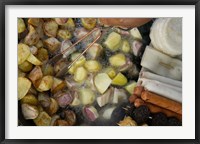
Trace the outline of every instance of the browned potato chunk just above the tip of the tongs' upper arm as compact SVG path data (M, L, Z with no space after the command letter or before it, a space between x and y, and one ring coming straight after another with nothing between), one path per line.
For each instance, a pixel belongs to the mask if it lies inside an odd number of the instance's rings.
M55 53L59 50L61 43L54 37L48 38L44 41L50 53Z

